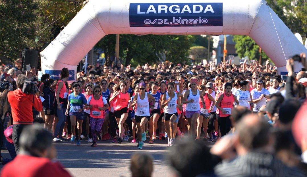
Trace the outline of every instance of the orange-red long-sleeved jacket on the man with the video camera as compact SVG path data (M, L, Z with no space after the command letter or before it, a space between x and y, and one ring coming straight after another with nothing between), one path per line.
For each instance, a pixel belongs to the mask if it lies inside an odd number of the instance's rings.
M37 110L43 109L41 99L31 94L25 94L20 89L7 93L12 108L13 124L33 124L32 106Z

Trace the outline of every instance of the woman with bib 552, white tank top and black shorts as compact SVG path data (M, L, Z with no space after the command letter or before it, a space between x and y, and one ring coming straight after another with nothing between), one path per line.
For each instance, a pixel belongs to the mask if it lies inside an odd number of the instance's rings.
M164 108L164 123L166 127L166 133L168 134L168 146L173 146L175 144L175 125L178 122L177 108L182 110L181 100L178 99L182 97L181 93L175 92L175 85L173 82L167 84L166 94L162 96L161 108Z

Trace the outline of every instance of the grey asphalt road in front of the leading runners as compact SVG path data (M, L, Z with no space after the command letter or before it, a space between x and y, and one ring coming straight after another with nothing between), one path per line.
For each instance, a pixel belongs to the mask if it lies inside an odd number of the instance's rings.
M131 141L131 138L129 139ZM146 152L154 159L153 177L174 176L168 166L165 155L172 147L167 146L167 140L156 140L148 144L146 140L143 149L136 144L123 141L122 144L111 143L111 140L99 141L97 147L91 147L87 140L81 140L77 146L69 140L54 142L57 151L57 160L70 172L72 176L131 176L129 165L130 157L134 152ZM213 143L209 143L212 146ZM8 151L1 151L3 157L10 158Z

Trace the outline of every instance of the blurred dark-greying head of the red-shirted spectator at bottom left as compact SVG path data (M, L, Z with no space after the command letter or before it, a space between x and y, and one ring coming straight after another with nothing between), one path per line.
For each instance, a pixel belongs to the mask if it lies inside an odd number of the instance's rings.
M20 153L53 159L56 156L52 145L52 134L43 125L33 124L22 131L20 140Z

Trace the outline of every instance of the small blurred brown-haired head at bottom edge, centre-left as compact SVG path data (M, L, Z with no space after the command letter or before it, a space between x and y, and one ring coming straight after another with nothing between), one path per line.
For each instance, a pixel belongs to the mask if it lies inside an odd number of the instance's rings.
M147 153L134 153L131 156L132 177L150 177L153 172L153 159Z

